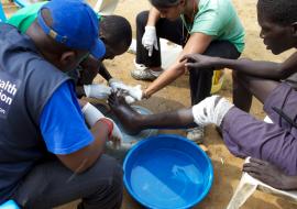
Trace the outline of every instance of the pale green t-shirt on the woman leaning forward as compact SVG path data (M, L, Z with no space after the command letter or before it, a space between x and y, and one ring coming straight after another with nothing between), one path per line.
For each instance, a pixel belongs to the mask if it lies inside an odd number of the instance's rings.
M188 32L211 35L213 40L229 41L239 52L244 48L244 29L230 0L197 0L199 10L194 23L182 19Z

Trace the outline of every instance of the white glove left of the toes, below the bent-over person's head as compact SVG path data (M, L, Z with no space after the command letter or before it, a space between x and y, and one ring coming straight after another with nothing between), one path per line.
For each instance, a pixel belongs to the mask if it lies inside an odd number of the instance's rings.
M111 94L111 88L106 85L84 85L87 97L107 99Z

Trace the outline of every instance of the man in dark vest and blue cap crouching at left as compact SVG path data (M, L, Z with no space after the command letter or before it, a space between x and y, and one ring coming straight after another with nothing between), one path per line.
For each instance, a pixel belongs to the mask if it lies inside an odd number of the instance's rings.
M0 24L0 205L53 208L82 199L78 208L121 207L122 169L102 154L121 135L77 101L65 74L88 54L105 55L98 33L95 12L77 0L44 4L26 35Z

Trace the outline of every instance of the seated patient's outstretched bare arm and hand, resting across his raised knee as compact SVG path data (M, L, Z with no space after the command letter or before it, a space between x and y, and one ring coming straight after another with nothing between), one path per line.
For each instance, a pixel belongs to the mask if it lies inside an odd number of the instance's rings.
M244 58L226 59L199 54L185 55L180 62L185 61L187 61L185 66L190 70L198 70L205 67L213 67L216 69L227 67L251 76L277 80L285 79L297 72L297 53L294 53L288 59L280 64Z

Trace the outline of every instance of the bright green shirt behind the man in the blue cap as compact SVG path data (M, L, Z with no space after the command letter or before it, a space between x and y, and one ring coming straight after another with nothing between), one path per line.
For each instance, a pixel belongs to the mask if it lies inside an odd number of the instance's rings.
M7 20L7 23L12 24L18 28L22 33L25 33L29 26L37 18L38 11L44 2L33 3L28 7L24 7L18 10L10 19Z

